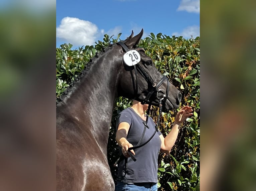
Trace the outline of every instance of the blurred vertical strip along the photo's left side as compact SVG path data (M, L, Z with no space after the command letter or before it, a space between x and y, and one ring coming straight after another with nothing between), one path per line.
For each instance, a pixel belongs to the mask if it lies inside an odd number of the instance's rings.
M0 190L55 190L53 0L0 1Z

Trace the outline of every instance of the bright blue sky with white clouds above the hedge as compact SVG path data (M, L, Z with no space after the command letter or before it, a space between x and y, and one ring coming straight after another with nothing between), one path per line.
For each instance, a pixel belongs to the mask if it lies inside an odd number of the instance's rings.
M200 36L200 0L56 0L56 47L95 45L104 34L125 40L142 28L142 38Z

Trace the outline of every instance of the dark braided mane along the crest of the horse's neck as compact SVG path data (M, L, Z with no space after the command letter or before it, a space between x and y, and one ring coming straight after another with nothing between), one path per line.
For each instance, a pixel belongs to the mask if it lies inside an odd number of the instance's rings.
M103 47L100 53L96 52L96 55L91 58L87 64L85 64L84 70L82 70L74 80L69 83L69 87L59 96L59 98L56 98L56 106L61 105L67 98L69 98L69 96L77 89L81 79L88 74L88 71L91 69L93 64L96 63L96 60L98 60L98 58L100 58L112 46L113 44L109 44L108 47Z

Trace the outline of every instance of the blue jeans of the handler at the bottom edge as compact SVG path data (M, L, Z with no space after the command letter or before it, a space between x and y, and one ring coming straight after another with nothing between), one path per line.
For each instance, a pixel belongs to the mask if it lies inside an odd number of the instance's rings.
M125 183L117 182L115 191L157 191L157 183Z

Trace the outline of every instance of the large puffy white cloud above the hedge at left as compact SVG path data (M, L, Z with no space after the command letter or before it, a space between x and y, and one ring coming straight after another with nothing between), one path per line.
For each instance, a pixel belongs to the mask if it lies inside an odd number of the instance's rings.
M76 46L94 45L103 31L90 21L74 17L65 17L56 28L56 37Z

